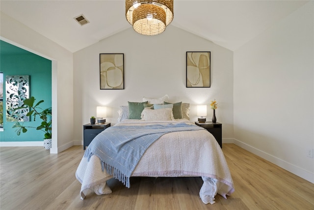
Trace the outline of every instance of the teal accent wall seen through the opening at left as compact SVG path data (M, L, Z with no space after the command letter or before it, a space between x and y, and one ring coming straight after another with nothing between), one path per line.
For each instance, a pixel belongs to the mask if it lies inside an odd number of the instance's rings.
M3 72L3 129L0 132L1 142L43 141L44 132L28 128L26 133L18 136L14 122L7 122L5 117L5 77L6 75L29 75L30 96L35 103L44 100L41 108L52 107L52 61L30 53L24 49L0 40L0 72ZM26 126L37 127L40 120L24 122Z

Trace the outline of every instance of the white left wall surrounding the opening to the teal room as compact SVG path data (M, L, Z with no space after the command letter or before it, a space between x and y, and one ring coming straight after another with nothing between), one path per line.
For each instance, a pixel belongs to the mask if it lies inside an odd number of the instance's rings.
M73 145L73 54L1 12L1 39L52 60L52 149ZM43 78L43 82L45 82ZM5 129L5 128L4 128Z

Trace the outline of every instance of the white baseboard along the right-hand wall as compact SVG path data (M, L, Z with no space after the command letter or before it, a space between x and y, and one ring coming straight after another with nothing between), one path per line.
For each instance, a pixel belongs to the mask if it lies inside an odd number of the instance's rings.
M229 141L226 141L229 142ZM231 141L230 141L231 142ZM225 142L224 142L225 143ZM237 139L233 140L233 143L240 148L243 148L244 150L247 150L249 152L252 152L253 154L256 154L265 160L268 160L269 162L287 170L288 172L291 172L292 174L301 177L302 179L308 180L312 183L314 183L314 173L309 172L307 170L304 170L296 165L293 165L291 163L288 163L287 161L280 159L278 157L275 157L271 154L268 154L267 152L264 152L262 150L259 150L257 148L254 148L246 143L243 143Z

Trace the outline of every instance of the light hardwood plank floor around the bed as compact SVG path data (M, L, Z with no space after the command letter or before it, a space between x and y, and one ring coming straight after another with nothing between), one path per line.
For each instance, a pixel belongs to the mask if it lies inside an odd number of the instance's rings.
M224 144L235 192L205 205L201 178L108 181L112 193L79 198L75 178L82 146L59 154L42 147L0 148L0 210L314 210L314 184L246 151Z

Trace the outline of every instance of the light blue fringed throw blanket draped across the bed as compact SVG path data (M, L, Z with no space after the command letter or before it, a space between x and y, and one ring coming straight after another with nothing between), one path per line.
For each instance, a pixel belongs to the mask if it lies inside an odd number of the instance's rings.
M101 159L103 170L130 187L130 177L144 152L160 136L177 131L204 129L185 123L146 126L112 126L98 134L85 150L88 161L92 155Z

